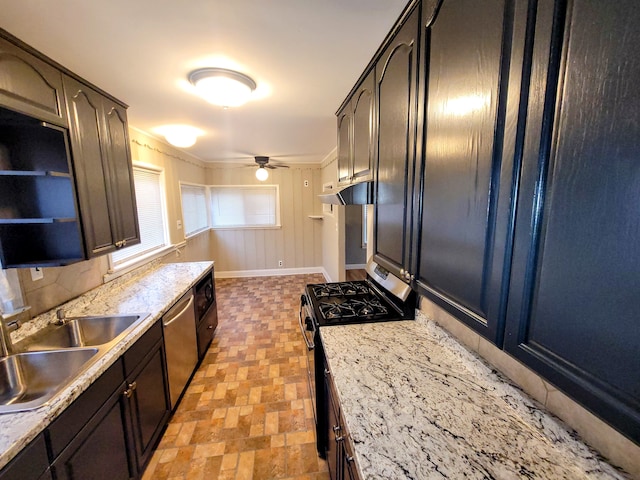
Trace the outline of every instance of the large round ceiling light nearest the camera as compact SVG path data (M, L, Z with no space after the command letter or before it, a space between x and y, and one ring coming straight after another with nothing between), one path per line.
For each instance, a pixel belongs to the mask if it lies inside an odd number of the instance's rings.
M256 82L243 73L226 68L201 68L189 81L207 102L221 107L239 107L249 101Z

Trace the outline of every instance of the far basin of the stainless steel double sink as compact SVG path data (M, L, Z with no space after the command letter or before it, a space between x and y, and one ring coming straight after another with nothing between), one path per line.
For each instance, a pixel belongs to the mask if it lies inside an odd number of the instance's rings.
M49 325L16 345L19 351L93 347L112 342L138 322L142 315L76 317L63 325Z

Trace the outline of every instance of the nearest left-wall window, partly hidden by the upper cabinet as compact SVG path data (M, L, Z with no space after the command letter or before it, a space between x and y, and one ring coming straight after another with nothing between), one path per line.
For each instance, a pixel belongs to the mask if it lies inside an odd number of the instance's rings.
M113 267L122 266L133 259L146 258L167 246L167 222L162 188L162 171L134 166L140 240L138 245L126 247L111 254Z

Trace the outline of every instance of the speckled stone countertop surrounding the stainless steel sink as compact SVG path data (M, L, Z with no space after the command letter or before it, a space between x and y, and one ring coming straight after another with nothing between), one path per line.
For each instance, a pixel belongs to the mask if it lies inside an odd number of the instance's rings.
M191 288L213 262L159 264L134 271L61 305L67 316L147 313L121 341L46 405L27 412L0 415L0 468L62 413L162 315ZM12 333L15 342L56 318L46 312Z

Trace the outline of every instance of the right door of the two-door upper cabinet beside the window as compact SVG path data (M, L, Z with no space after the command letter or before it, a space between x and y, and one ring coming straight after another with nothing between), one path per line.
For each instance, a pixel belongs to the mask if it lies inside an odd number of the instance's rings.
M104 99L107 131L106 153L109 160L110 193L117 225L117 241L125 245L140 243L133 167L129 148L126 110Z

